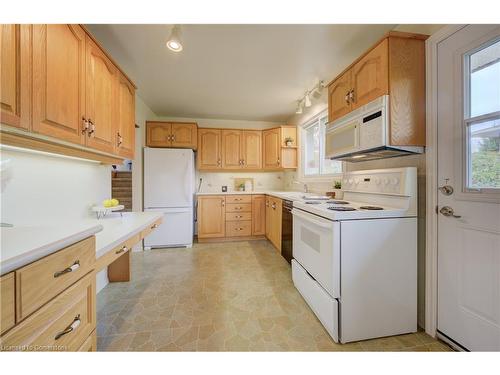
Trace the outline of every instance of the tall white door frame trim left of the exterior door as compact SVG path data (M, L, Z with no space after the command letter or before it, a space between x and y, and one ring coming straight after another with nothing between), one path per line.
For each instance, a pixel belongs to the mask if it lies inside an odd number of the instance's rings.
M438 44L467 25L448 25L425 43L426 52L426 235L425 332L437 333L437 49Z

